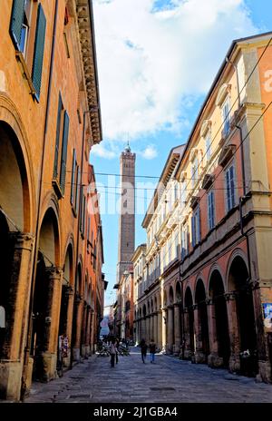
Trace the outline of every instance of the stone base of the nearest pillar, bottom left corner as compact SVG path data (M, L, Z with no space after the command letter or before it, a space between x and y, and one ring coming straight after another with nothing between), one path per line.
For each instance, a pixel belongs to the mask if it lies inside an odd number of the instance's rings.
M20 400L23 364L0 360L0 399Z

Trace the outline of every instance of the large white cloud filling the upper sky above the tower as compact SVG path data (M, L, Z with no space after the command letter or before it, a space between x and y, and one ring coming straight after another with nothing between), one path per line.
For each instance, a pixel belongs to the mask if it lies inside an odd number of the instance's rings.
M106 139L124 142L128 134L133 140L162 129L180 133L188 97L208 91L231 41L257 33L243 0L164 4L94 0Z

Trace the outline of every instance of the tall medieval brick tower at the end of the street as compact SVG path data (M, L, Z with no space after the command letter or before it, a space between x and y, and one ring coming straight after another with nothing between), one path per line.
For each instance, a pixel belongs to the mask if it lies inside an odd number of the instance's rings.
M119 218L119 246L117 283L125 270L131 267L135 247L135 160L129 144L120 157L121 205Z

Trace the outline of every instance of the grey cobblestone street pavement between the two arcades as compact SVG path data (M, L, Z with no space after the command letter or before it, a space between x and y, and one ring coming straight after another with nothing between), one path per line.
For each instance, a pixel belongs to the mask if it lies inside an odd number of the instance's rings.
M156 355L151 364L148 356L142 364L138 348L131 348L114 368L109 357L93 356L61 378L34 383L25 402L271 403L272 385L176 357Z

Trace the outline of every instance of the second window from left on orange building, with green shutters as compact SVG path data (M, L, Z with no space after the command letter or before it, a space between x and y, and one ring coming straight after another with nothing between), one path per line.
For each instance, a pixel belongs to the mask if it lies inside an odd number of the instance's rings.
M65 177L66 177L66 161L67 161L67 146L69 135L69 117L63 109L63 101L59 95L56 139L55 139L55 153L53 164L53 185L56 186L61 195L64 194ZM62 141L62 143L60 143ZM61 154L59 153L60 151ZM55 183L57 181L57 183Z

